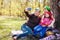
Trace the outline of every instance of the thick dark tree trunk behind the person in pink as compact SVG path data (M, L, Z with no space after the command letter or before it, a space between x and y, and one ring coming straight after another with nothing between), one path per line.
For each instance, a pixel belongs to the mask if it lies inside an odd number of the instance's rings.
M55 17L54 26L60 30L60 0L50 0L50 3L51 9Z

